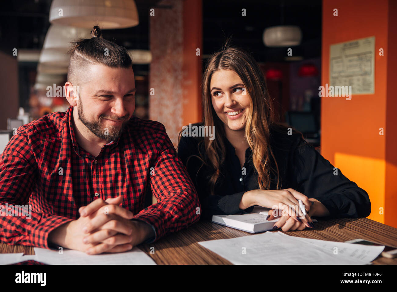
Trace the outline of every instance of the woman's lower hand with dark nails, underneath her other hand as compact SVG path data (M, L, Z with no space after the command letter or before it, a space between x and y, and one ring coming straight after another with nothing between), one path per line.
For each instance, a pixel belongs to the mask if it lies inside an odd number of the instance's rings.
M313 205L314 202L310 201L310 204ZM305 219L308 221L307 227L314 228L314 224L312 219L310 218L312 214L315 213L316 207L313 205L310 208L310 211L306 212L306 217ZM267 220L273 220L276 216L281 215L279 214L277 209L272 209L269 211L269 215L266 218ZM276 230L278 228L281 228L284 232L287 232L288 230L293 231L293 230L303 230L306 228L306 224L304 222L297 222L294 220L291 216L289 215L281 215L281 218L273 225L273 230Z

